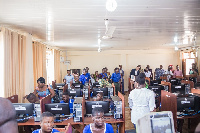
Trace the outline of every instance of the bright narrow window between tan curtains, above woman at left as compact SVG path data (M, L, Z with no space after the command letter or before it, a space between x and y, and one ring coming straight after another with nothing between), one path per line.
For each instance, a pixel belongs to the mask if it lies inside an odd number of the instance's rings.
M46 50L46 69L47 69L47 84L52 84L54 81L54 50Z

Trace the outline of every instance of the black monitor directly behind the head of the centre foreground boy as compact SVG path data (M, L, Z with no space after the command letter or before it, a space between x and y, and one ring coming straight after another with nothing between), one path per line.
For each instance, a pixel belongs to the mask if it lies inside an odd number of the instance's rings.
M109 113L110 103L109 101L86 101L85 102L86 114L92 114L92 109L95 107L102 108L104 110L104 114Z

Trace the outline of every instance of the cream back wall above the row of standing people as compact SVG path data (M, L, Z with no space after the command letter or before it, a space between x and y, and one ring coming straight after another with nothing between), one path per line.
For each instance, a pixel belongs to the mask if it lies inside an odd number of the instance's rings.
M71 64L62 66L62 78L64 78L67 69L89 67L92 74L96 70L100 73L103 67L107 67L108 71L113 73L114 68L122 64L125 71L125 89L128 86L129 73L137 65L142 65L142 68L150 65L153 70L160 65L163 65L164 69L167 69L169 64L180 65L179 52L174 50L107 50L101 53L97 51L68 51L67 60L70 60Z

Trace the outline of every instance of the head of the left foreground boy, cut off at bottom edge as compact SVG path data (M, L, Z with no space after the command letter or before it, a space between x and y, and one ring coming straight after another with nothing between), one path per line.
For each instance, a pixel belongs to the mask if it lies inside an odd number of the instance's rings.
M43 133L51 133L54 126L54 115L50 112L43 112L40 117L40 126Z

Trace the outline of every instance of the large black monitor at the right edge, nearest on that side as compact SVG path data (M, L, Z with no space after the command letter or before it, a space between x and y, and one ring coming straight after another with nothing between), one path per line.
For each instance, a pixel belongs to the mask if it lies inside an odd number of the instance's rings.
M199 97L195 95L177 97L177 111L199 111Z

